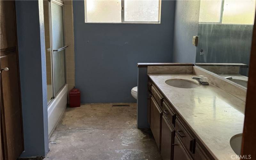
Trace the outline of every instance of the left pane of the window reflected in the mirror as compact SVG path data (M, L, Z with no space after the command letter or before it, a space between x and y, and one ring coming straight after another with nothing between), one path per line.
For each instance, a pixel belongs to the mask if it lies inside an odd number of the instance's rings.
M199 22L220 22L221 0L201 0Z

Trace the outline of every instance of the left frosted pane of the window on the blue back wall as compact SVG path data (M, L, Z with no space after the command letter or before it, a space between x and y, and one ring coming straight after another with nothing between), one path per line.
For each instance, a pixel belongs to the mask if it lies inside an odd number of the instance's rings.
M86 0L87 22L121 22L121 0Z

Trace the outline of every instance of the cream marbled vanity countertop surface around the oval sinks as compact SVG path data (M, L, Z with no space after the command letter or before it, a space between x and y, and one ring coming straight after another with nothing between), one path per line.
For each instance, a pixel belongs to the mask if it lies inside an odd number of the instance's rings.
M189 74L148 74L168 101L187 122L204 146L216 159L236 155L230 138L243 132L245 102L213 84L202 85ZM168 79L194 81L196 88L176 88L165 84Z

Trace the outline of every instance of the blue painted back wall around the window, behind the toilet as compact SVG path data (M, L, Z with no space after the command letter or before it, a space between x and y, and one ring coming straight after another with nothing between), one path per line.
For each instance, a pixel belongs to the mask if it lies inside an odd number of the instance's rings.
M162 1L161 24L84 22L73 1L76 87L81 102L136 102L138 62L172 62L175 1Z

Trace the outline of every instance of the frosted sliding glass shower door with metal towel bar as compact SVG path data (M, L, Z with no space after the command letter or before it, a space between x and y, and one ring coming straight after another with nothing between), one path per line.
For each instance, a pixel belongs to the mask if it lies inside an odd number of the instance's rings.
M66 84L63 2L49 1L53 98Z

